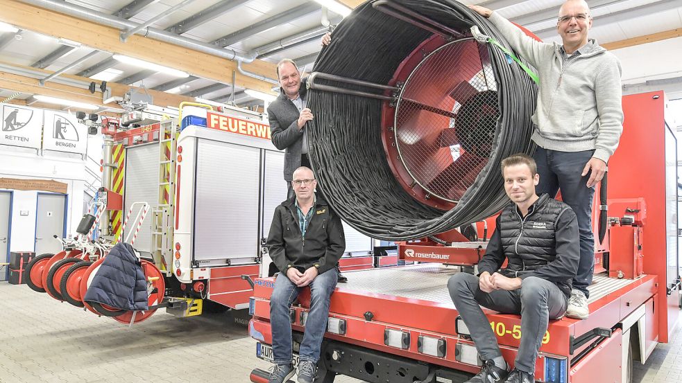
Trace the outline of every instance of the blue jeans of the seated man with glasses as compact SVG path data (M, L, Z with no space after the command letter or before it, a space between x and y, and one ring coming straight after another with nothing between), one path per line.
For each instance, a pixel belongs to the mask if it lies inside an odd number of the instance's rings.
M322 339L327 331L329 304L336 288L336 269L325 271L310 283L310 311L305 321L305 332L300 344L299 358L317 363L320 359ZM273 356L276 364L291 364L293 345L289 308L298 293L305 287L298 287L285 274L278 274L275 288L270 297L270 324L273 334Z

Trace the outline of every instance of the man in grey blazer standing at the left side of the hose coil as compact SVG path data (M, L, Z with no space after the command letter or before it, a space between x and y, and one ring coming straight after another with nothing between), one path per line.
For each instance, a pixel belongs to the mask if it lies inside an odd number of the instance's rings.
M277 64L277 78L280 96L268 106L268 120L275 148L284 150L284 181L287 182L287 199L291 199L294 197L293 171L301 166L311 168L305 126L313 119L313 113L306 107L307 78L300 78L293 60L282 59ZM339 282L346 280L339 272Z

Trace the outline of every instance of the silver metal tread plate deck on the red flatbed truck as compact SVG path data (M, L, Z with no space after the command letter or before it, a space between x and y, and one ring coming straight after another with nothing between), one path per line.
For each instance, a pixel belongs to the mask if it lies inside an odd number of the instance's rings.
M373 294L420 299L454 308L450 293L447 291L447 280L458 272L457 267L448 267L440 263L348 271L344 273L348 277L348 283L337 285L337 287ZM389 283L377 283L378 280L389 281ZM634 281L609 278L606 274L597 274L594 276L592 285L588 287L590 290L588 302L597 301L597 299Z

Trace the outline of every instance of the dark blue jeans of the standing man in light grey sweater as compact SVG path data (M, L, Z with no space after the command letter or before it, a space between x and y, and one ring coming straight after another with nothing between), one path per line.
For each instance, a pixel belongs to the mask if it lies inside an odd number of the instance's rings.
M592 283L595 272L595 236L592 232L592 202L595 188L587 187L590 172L581 176L585 164L590 161L594 150L583 152L559 152L545 150L538 146L534 159L538 164L540 184L536 193L556 197L561 189L561 199L571 206L578 218L580 234L580 261L577 275L573 278L573 288L580 290L589 298L587 287Z

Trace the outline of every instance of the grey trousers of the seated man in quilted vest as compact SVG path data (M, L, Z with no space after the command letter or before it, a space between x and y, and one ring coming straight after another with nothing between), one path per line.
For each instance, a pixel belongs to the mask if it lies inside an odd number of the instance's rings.
M481 305L503 314L521 314L521 339L514 364L532 375L549 319L561 317L568 308L568 298L559 287L534 276L525 278L518 290L495 290L488 294L479 289L477 276L458 273L447 281L447 290L484 360L500 357L502 353Z

